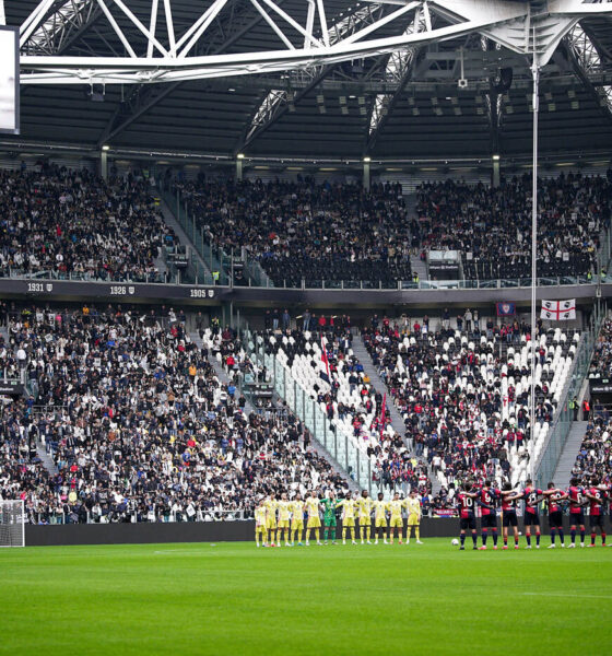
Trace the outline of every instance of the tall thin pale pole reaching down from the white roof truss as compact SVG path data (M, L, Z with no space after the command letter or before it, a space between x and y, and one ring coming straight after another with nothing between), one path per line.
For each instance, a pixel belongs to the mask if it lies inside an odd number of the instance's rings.
M531 480L536 482L536 456L533 453L536 442L536 309L538 291L538 112L540 109L540 65L533 31L533 164L532 164L532 199L531 199L531 394L529 399L529 427L530 427L530 471Z

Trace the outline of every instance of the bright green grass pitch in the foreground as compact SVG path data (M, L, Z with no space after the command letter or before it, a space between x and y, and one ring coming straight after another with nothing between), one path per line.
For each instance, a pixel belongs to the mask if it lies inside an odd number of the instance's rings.
M0 654L598 654L611 581L601 547L0 550Z

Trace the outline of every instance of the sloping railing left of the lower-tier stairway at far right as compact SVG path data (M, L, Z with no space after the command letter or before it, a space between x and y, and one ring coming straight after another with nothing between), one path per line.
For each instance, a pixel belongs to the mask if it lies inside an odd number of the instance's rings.
M574 422L574 409L569 407L569 401L579 395L585 376L589 371L597 337L605 315L607 307L604 304L597 303L593 305L589 325L582 332L582 339L576 352L569 385L561 399L557 414L542 448L541 456L536 462L536 483L540 488L545 487L549 481L553 480L558 459Z

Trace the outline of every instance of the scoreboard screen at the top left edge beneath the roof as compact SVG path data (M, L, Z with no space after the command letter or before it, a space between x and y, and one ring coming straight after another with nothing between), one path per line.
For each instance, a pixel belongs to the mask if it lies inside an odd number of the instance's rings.
M19 134L19 30L0 26L0 133Z

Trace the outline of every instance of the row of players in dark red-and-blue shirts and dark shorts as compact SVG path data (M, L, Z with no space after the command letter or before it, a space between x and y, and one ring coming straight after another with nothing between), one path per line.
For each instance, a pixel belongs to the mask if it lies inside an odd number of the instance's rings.
M549 483L548 490L539 490L533 487L531 480L526 481L522 490L513 489L507 483L503 490L492 487L491 481L485 481L480 488L473 488L466 483L458 493L460 513L460 549L464 549L466 531L471 530L473 549L478 547L475 506L481 508L481 550L486 549L486 541L491 532L493 549L497 549L497 508L502 509L502 527L504 537L504 549L508 549L508 529L514 532L515 549L518 549L518 516L517 507L519 501L525 503L525 536L526 549L531 549L532 531L536 537L536 549L540 549L540 514L539 505L545 501L551 530L551 544L549 549L555 549L555 538L558 535L562 547L565 547L563 529L563 507L569 505L569 531L570 543L568 548L576 547L576 535L580 531L580 547L585 547L585 506L589 506L589 518L591 529L591 543L595 547L597 529L601 535L601 544L605 547L605 505L612 491L612 485L602 484L597 478L590 480L589 484L580 484L579 479L569 481L567 490L556 488L553 482Z

